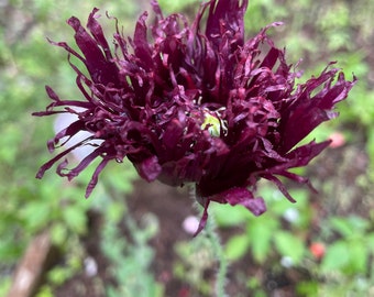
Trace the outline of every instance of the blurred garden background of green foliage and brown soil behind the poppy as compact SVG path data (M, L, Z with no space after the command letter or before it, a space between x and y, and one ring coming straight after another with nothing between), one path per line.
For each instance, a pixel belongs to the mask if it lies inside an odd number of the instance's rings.
M199 1L160 4L193 20ZM94 7L110 40L114 21L106 12L131 36L150 1L0 0L0 296L41 235L47 248L31 258L45 252L48 260L29 296L213 296L218 263L206 237L191 239L198 212L186 189L139 180L128 163L108 166L89 199L95 164L74 183L53 170L34 178L54 135L53 117L31 117L50 103L44 86L62 98L80 96L66 52L46 38L73 45L65 21L85 23ZM297 170L318 194L290 184L292 205L261 183L268 206L262 217L212 207L230 264L228 296L374 296L373 15L372 0L250 1L246 35L283 21L270 35L287 48L288 63L302 58L300 81L338 61L359 82L339 105L341 116L311 135L331 138L331 147Z

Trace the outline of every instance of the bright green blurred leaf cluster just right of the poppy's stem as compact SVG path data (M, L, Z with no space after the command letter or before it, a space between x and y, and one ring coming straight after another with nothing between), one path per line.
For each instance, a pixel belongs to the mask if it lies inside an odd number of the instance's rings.
M290 205L278 190L267 184L262 187L261 195L267 198L268 210L258 218L244 208L215 208L219 226L243 228L243 232L229 239L227 256L238 261L250 250L254 261L260 264L274 261L276 255L288 257L293 265L300 264L307 253L304 239L311 219L307 191L292 191L297 197L297 206ZM284 229L285 222L288 223L287 230Z

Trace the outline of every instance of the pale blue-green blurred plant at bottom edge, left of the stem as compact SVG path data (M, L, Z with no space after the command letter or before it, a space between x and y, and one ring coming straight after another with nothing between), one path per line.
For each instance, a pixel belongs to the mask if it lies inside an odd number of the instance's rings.
M122 215L125 216L124 227L131 234L129 241L110 220L107 220L102 230L102 251L112 263L110 273L117 280L117 286L107 286L107 296L162 297L163 287L150 273L155 252L148 245L148 240L158 231L157 219L148 213L143 218L142 227L139 227L129 213Z

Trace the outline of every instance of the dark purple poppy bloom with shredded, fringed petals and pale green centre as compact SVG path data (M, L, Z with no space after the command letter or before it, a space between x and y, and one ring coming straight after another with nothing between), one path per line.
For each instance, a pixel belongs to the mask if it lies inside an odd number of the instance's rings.
M198 231L211 201L242 205L256 216L264 212L264 200L254 196L260 178L275 183L294 201L278 177L308 184L289 168L307 165L329 141L297 144L337 117L332 109L355 79L346 81L329 65L295 86L299 73L266 35L279 23L244 40L248 0L208 1L191 24L182 14L164 18L155 0L152 7L156 18L151 30L146 12L133 38L123 36L117 24L114 48L97 21L97 9L88 18L88 30L78 19L68 20L81 53L64 42L54 44L86 66L88 75L70 62L82 96L62 99L47 87L52 103L34 114L77 117L48 142L51 151L78 132L89 135L45 163L37 177L58 162L57 173L72 179L101 158L88 197L107 163L128 157L148 182L196 186L205 208ZM67 169L65 156L90 144L95 150Z

